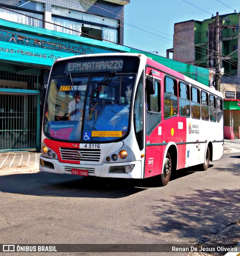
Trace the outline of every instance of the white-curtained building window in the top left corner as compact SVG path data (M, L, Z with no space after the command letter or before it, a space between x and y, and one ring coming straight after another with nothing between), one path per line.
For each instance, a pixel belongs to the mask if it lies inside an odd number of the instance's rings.
M12 1L13 2L13 1ZM43 27L43 5L30 1L16 1L12 5L6 5L6 0L0 0L1 18L34 27Z

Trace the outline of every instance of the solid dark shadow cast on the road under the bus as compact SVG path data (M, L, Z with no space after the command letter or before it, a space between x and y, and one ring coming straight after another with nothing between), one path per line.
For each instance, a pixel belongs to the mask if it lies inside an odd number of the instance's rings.
M171 180L193 172L189 168L179 170L172 174ZM59 175L46 172L12 174L0 176L0 191L38 196L121 198L151 187L159 187L159 178L160 176L145 180L83 178L75 175Z

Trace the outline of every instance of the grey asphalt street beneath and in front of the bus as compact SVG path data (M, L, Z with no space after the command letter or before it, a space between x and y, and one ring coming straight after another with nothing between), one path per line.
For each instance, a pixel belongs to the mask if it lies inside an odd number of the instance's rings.
M239 219L239 165L239 152L227 153L207 171L180 170L165 187L158 187L156 178L2 175L1 243L204 242Z

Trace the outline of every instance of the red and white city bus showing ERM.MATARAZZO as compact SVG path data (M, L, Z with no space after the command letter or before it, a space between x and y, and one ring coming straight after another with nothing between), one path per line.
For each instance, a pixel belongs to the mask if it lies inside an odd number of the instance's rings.
M223 97L143 54L61 58L49 74L41 138L40 171L157 176L165 186L171 172L207 170L222 156Z

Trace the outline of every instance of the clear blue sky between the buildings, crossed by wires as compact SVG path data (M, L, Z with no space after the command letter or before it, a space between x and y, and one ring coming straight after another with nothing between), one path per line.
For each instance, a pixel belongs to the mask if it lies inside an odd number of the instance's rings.
M240 0L130 0L124 6L124 45L166 57L166 49L173 48L174 23L235 10L240 12Z

